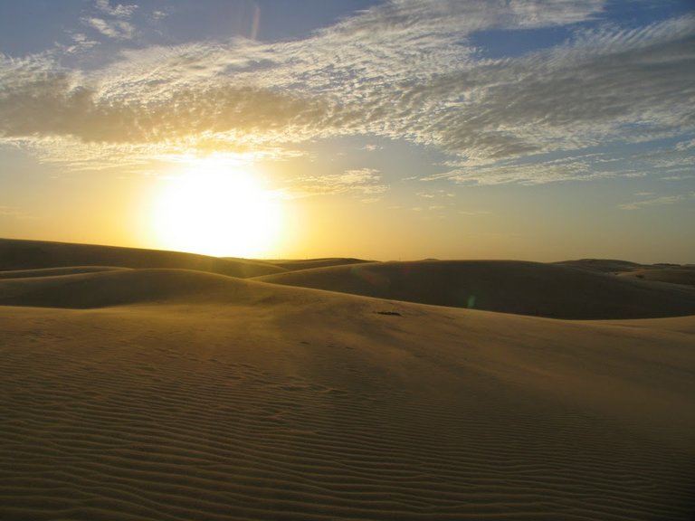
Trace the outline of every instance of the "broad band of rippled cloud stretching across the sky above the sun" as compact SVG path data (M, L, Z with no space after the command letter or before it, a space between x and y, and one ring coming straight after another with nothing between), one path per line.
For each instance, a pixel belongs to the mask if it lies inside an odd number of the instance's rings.
M112 39L133 37L136 5L95 7L99 15L85 24ZM695 105L695 16L633 30L603 25L504 60L481 58L470 43L486 29L576 24L604 7L393 0L300 41L147 48L121 52L99 70L66 67L50 54L4 57L0 139L160 154L373 135L457 157L445 176L458 182L612 175L583 160L530 160L691 132L695 113L684 108Z

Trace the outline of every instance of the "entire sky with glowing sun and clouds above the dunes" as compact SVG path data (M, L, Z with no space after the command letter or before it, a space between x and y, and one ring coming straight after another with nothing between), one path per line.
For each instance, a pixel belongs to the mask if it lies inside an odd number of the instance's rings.
M695 263L692 0L0 0L0 237Z

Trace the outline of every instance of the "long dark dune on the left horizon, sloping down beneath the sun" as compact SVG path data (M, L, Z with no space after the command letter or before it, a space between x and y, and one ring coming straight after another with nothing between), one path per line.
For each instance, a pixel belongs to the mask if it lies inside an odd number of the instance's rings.
M72 266L176 268L210 271L242 278L283 271L278 266L263 262L232 261L179 251L0 239L0 270L31 270Z

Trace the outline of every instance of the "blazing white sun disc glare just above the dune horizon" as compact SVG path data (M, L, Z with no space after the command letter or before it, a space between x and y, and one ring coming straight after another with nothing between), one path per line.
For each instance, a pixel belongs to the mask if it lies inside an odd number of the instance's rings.
M257 177L210 159L167 179L153 210L164 248L246 258L267 253L282 217L279 198Z

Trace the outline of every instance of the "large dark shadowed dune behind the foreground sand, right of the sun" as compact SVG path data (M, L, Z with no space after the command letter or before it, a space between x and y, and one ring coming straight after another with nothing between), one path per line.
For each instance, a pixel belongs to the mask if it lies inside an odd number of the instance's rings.
M523 261L383 262L259 278L439 306L561 318L695 314L695 290Z

